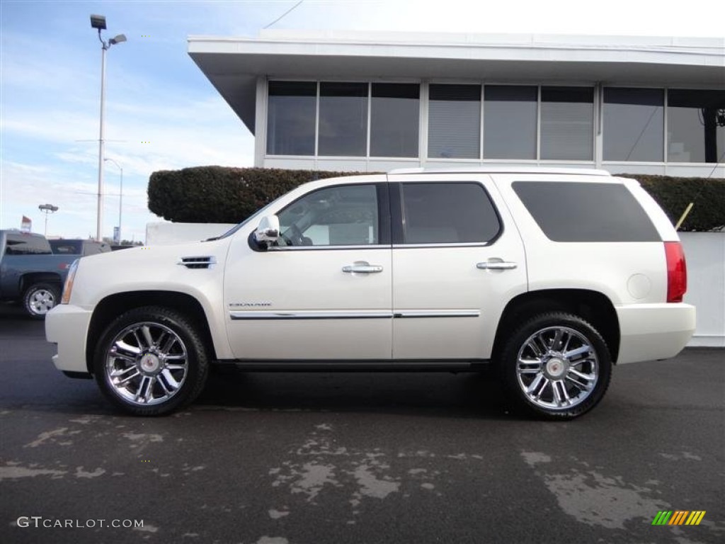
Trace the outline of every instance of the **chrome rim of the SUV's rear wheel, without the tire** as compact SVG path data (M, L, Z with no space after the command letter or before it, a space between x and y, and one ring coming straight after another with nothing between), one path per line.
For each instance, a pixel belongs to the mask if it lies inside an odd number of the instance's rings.
M529 403L547 410L568 410L595 390L600 362L592 342L566 326L531 334L518 350L516 378Z

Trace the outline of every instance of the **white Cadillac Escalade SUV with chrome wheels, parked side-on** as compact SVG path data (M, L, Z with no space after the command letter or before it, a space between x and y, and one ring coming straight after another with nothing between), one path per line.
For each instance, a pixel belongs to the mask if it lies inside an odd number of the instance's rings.
M83 257L46 318L54 363L169 413L210 363L253 370L492 364L569 419L613 364L695 330L682 247L637 181L599 170L395 170L299 186L216 239Z

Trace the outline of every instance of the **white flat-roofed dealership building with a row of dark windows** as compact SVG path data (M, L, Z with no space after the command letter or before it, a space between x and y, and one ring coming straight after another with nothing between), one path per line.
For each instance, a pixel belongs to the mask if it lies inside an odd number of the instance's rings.
M263 30L188 53L259 167L725 177L724 39Z

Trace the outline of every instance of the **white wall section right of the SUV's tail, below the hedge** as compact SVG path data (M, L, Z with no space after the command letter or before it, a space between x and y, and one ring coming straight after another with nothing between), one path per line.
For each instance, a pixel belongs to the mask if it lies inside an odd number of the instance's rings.
M691 346L725 347L725 232L679 233L687 260L684 302L697 307Z

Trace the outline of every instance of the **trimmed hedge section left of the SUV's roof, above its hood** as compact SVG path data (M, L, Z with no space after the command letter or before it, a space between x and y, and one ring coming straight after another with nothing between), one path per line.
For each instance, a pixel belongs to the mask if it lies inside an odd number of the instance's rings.
M223 166L159 170L149 178L149 210L178 223L239 223L307 181L355 174Z

